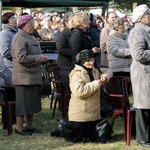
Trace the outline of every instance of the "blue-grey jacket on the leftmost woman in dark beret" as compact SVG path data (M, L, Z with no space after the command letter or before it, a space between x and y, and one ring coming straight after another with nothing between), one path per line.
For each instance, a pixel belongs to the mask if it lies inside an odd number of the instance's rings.
M0 55L4 64L12 71L11 42L17 29L7 24L2 24L2 29L0 32Z

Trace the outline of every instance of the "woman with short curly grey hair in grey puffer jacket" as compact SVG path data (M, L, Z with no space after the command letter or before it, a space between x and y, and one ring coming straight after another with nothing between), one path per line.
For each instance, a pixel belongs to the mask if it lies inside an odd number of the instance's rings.
M110 22L111 32L108 36L107 57L109 69L114 76L130 76L131 53L128 36L124 33L124 20L115 18Z

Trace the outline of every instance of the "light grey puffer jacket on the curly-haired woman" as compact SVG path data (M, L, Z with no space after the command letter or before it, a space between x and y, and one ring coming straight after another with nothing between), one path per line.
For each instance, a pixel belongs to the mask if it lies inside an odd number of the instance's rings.
M108 36L107 57L112 72L130 72L132 59L126 34L111 30Z

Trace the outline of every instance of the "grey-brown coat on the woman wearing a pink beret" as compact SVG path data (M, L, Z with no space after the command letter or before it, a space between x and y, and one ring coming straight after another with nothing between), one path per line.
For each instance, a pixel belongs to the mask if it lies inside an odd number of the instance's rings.
M35 37L19 29L12 41L15 85L41 85L41 49Z

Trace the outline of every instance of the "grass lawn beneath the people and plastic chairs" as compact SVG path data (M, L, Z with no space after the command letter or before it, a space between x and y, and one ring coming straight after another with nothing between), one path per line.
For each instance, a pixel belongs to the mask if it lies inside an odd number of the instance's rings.
M14 133L7 135L7 130L2 129L0 122L0 150L141 150L143 147L138 146L135 139L131 140L131 146L126 146L124 141L124 130L122 117L118 116L114 124L114 135L111 141L106 144L93 143L69 143L63 138L50 136L51 129L56 127L57 119L61 113L56 111L55 118L52 119L52 110L49 109L49 99L42 99L42 111L35 115L34 123L37 128L43 130L42 134L33 134L24 137Z

